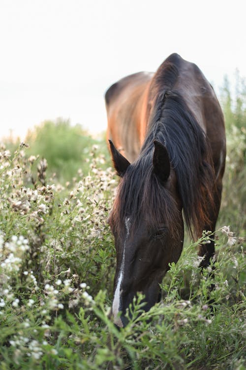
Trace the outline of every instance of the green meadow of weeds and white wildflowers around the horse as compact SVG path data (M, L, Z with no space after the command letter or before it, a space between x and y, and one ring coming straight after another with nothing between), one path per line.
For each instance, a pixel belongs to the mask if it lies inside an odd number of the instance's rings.
M244 81L233 99L225 79L220 102L227 158L214 277L198 267L209 235L186 238L161 302L144 312L139 294L120 330L107 223L118 179L105 139L60 119L1 144L0 370L246 368Z

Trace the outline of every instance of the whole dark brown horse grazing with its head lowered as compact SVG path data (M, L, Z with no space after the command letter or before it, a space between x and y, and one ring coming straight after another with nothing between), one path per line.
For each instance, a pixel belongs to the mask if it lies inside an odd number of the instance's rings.
M112 313L122 327L137 292L145 295L146 311L157 302L169 263L183 249L183 214L191 237L215 231L226 141L213 87L178 54L155 74L119 80L105 100L109 148L121 177L109 223L117 258ZM212 236L200 246L201 266L214 254Z

